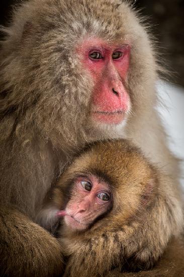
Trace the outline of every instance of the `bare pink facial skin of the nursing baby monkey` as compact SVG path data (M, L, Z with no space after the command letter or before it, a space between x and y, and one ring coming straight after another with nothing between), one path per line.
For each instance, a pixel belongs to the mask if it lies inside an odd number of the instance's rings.
M91 190L86 190L81 182L89 182ZM108 200L99 198L104 196L103 193L109 196ZM96 218L108 211L112 203L108 184L100 182L95 176L78 177L71 195L65 211L57 212L57 216L64 217L65 224L73 231L88 228Z

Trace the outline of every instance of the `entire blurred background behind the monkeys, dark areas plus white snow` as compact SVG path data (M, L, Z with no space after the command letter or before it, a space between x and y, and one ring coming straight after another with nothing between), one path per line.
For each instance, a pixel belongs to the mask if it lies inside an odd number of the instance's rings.
M20 2L0 0L0 24L8 25L12 7ZM157 109L169 134L169 147L181 158L184 176L184 0L132 0L132 3L135 9L141 10L141 14L147 17L163 53L164 67L172 75L169 83L157 83L164 104Z

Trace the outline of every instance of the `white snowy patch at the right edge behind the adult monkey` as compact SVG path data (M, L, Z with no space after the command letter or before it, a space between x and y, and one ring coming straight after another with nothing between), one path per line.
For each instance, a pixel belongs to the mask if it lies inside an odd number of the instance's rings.
M176 85L158 82L157 90L164 105L159 105L163 125L171 151L181 161L181 184L184 191L184 89Z

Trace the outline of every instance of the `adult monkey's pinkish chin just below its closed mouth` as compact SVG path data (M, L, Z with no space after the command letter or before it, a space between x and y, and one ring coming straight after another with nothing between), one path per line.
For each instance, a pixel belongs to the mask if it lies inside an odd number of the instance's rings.
M123 111L118 112L93 112L93 119L106 124L119 124L125 118Z

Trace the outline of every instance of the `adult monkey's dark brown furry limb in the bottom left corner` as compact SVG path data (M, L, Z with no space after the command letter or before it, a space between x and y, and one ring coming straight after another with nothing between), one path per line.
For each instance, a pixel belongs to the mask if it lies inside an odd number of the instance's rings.
M14 208L0 212L0 276L59 276L63 260L57 240Z

